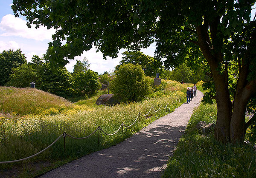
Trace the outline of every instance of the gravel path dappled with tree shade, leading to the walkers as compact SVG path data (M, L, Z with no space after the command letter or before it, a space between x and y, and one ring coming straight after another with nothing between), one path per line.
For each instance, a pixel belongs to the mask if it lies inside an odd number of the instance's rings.
M160 178L203 93L125 141L47 172L42 178Z

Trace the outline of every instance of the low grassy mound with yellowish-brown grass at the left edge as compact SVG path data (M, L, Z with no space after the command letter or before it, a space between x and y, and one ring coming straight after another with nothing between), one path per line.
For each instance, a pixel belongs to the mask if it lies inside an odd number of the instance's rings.
M0 87L1 116L59 113L72 108L71 102L34 88Z

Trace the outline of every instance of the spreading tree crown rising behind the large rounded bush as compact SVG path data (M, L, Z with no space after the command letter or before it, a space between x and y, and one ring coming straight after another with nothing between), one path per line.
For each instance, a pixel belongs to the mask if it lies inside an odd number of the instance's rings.
M120 65L122 64L139 64L141 65L146 76L156 76L156 73L159 73L160 76L163 74L163 62L159 59L157 60L154 57L150 57L148 55L143 54L140 51L125 51L122 53L124 57L122 57L122 61L120 61ZM116 66L116 69L119 68L119 65Z

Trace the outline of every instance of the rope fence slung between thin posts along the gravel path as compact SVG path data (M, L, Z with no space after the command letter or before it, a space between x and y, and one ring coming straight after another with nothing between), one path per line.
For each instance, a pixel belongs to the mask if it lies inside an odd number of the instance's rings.
M166 109L167 105L168 105L168 103L167 103L166 106L163 108L163 110ZM151 106L150 110L149 110L148 113L145 114L145 115L139 112L138 115L137 115L137 118L134 120L134 122L133 122L131 125L125 125L124 123L122 123L122 124L119 126L119 128L116 130L116 132L111 133L111 134L106 133L104 130L102 130L102 128L101 128L100 126L99 126L96 130L94 130L92 133L90 133L90 135L88 135L88 136L86 136L86 137L74 137L74 136L71 136L71 135L67 134L66 132L64 132L64 133L61 134L55 141L53 141L52 144L50 144L50 145L49 145L48 147L46 147L44 150L41 150L40 152L35 153L34 155L31 155L31 156L26 157L26 158L17 159L17 160L13 160L13 161L0 161L0 164L15 163L15 162L18 162L18 161L24 161L24 160L26 160L26 159L33 158L33 157L35 157L36 155L39 155L40 153L43 153L45 150L47 150L49 147L51 147L53 144L55 144L56 141L58 141L61 137L64 138L64 150L66 150L66 146L65 146L65 145L66 145L66 141L65 141L66 136L69 136L70 138L73 138L73 139L84 139L84 138L88 138L88 137L92 136L92 135L93 135L94 133L96 133L96 131L98 130L98 131L99 131L99 132L98 132L98 133L99 133L99 136L98 136L98 144L99 144L100 130L102 131L102 133L104 133L104 134L107 135L107 136L113 136L113 135L115 135L116 133L118 133L121 128L123 128L123 127L131 127L132 125L134 125L140 115L142 115L142 116L148 116L148 114L151 112L152 109L154 110L155 113L157 113L157 112L160 110L160 108L161 108L161 107L159 107L158 110L155 110L154 107Z

